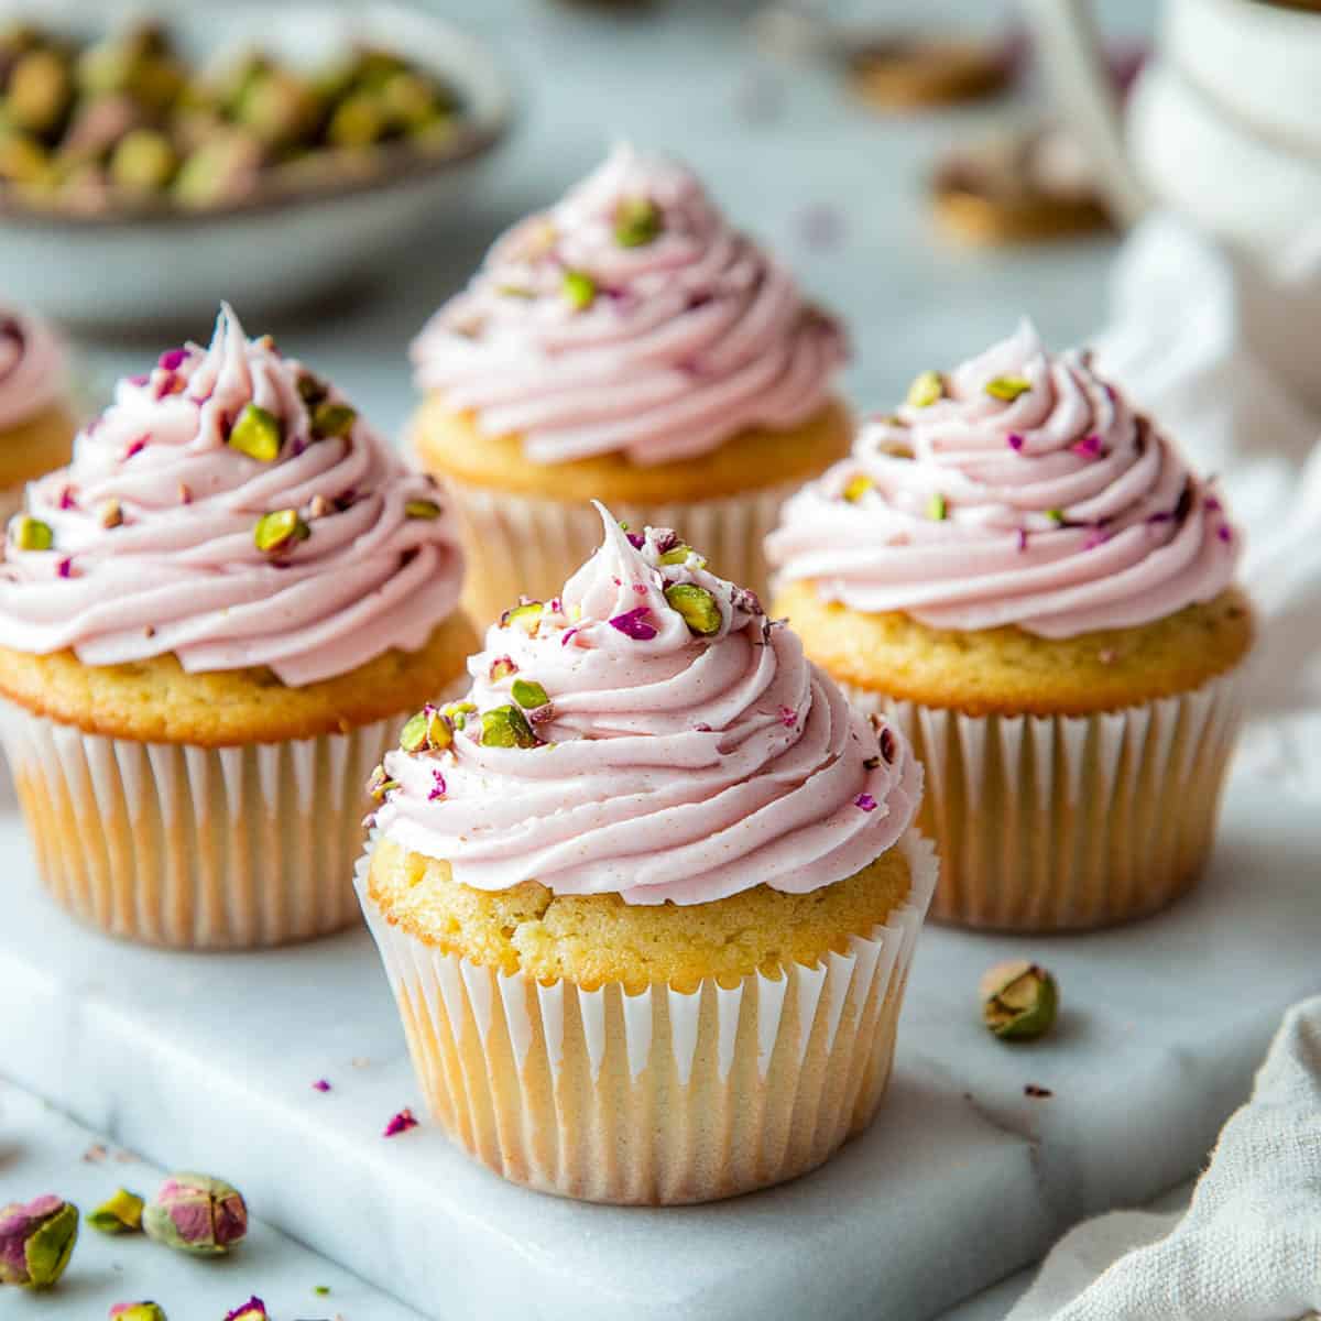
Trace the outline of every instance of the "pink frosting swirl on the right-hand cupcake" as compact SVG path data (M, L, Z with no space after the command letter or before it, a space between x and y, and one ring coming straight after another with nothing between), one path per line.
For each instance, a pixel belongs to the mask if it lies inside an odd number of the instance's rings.
M1086 354L1048 353L1024 322L919 376L789 502L766 553L782 580L855 610L1065 638L1211 600L1239 535Z

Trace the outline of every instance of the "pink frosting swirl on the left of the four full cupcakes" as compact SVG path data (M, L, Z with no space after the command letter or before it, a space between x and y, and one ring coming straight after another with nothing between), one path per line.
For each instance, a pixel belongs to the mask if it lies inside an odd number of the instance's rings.
M0 563L0 638L85 664L174 653L189 671L269 666L291 686L346 674L420 649L453 612L462 556L443 505L225 308L210 349L120 382L73 464L28 487ZM25 546L32 520L49 548Z

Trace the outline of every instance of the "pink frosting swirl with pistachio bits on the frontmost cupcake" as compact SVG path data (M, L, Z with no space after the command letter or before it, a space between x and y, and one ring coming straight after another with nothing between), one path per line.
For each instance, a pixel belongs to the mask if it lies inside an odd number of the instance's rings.
M477 889L630 904L806 893L890 848L922 790L904 737L672 531L601 515L563 598L487 633L452 745L386 757L386 835Z

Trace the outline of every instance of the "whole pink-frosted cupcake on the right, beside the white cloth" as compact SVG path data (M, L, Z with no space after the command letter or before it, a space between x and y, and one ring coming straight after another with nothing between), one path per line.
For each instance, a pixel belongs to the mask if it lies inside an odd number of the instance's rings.
M1196 884L1252 645L1239 536L1089 355L1024 325L923 373L768 553L775 613L926 765L935 917L1095 927Z

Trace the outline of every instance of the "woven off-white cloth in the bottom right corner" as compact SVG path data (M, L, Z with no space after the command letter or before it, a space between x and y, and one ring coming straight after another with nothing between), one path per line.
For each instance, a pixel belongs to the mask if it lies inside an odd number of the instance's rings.
M1008 1321L1293 1321L1317 1308L1321 996L1285 1015L1188 1214L1079 1225Z

